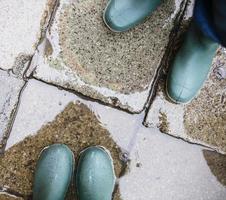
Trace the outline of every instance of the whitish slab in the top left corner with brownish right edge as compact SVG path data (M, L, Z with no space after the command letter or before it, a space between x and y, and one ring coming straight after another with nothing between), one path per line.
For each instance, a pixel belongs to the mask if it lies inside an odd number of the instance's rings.
M55 0L2 0L0 3L0 68L31 57L49 21Z

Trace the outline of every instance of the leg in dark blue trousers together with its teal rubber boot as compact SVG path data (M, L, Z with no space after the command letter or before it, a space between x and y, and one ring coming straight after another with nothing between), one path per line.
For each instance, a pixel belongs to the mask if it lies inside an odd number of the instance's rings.
M196 1L194 21L175 55L167 78L166 92L173 102L189 102L206 80L220 43L213 16L212 0ZM226 21L222 23L226 24Z

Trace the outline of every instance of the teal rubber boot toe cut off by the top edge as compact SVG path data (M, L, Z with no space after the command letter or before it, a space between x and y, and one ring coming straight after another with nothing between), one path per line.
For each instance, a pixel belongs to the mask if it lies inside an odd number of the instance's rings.
M109 0L104 22L114 32L127 31L143 22L163 0Z

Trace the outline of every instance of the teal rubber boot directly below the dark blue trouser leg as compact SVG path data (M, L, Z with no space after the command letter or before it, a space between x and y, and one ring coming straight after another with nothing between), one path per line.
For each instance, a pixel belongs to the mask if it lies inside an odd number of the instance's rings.
M192 24L167 78L166 92L173 102L188 103L197 95L208 76L218 46Z

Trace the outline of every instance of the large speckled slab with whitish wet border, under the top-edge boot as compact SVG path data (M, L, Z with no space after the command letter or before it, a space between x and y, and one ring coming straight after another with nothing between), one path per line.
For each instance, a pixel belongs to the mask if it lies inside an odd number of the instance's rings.
M164 1L145 23L125 33L105 26L106 4L106 0L61 0L33 58L34 76L141 112L185 1Z

